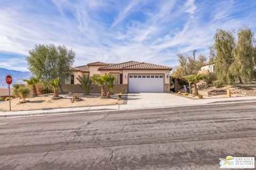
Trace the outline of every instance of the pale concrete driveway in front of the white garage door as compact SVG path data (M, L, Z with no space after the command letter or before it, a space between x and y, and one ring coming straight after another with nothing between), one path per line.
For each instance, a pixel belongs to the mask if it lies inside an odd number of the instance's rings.
M128 105L148 106L178 106L187 104L196 104L197 100L180 97L167 93L134 93L128 95Z

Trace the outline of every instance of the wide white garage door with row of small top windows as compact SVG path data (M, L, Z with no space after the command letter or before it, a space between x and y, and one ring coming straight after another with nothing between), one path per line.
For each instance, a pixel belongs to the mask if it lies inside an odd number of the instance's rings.
M129 92L164 92L163 75L129 75Z

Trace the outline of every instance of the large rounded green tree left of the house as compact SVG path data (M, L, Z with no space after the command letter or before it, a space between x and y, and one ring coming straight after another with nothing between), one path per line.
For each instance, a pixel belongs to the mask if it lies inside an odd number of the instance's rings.
M55 47L53 44L35 45L26 57L29 71L43 81L57 77L62 80L71 74L70 66L73 65L74 60L75 53L72 49L68 50L66 46ZM59 87L63 92L60 83Z

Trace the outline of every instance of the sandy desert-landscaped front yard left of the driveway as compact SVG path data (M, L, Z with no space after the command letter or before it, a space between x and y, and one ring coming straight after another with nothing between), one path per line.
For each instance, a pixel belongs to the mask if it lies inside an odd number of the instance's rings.
M84 95L78 94L82 101L71 102L73 94L62 94L61 99L52 99L52 94L41 95L38 97L27 98L27 103L20 104L22 99L15 98L11 100L12 111L26 111L34 109L50 109L50 108L65 108L65 107L84 107L84 106L102 106L124 104L124 100L118 100L117 95L111 95L111 98L99 98L99 94ZM0 103L0 111L9 111L9 101Z

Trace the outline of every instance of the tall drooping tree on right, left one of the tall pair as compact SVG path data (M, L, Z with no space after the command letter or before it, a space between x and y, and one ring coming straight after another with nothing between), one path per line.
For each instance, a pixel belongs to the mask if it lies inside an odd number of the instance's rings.
M214 48L216 52L215 72L219 82L234 84L235 77L230 66L234 62L235 38L233 33L225 30L217 30L214 36Z

